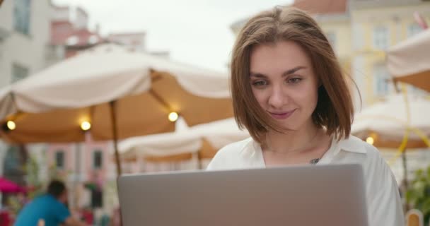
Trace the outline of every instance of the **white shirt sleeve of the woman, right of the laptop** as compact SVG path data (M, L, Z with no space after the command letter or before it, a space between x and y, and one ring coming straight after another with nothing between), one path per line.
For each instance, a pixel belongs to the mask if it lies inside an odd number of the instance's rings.
M369 225L404 226L405 215L393 172L383 157L379 153L375 154L366 186Z

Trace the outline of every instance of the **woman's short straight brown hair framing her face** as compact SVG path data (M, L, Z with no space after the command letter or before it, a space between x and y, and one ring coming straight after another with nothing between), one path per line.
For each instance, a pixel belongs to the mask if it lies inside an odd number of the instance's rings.
M318 103L312 114L315 125L340 140L348 138L354 107L344 73L335 52L318 24L307 13L293 7L275 7L252 17L240 31L231 59L231 92L238 126L245 127L255 141L262 143L268 129L282 132L260 107L250 85L250 54L258 44L292 41L310 57L320 81Z

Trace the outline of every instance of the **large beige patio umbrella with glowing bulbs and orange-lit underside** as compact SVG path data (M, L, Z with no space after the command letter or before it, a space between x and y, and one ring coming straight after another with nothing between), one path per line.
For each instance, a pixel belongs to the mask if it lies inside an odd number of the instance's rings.
M233 116L227 76L124 47L103 44L12 85L1 136L13 143L78 142L91 123L95 140L174 130L177 112L196 125ZM0 100L0 104L2 100ZM0 106L4 109L4 106ZM16 129L8 130L7 121Z

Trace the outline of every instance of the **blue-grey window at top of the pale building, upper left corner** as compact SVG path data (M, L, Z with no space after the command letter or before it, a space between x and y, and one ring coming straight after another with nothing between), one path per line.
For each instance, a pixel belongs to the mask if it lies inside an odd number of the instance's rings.
M30 0L15 0L13 28L24 35L30 34Z

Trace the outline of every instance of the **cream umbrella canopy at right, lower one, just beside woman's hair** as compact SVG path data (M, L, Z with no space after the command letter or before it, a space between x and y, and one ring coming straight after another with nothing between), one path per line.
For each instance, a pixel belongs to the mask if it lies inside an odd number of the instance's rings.
M364 109L354 117L351 133L361 138L375 136L375 144L386 148L397 148L406 129L415 128L426 136L430 134L430 100L428 97L407 95L409 109L405 97L401 94L387 98L385 102ZM407 124L409 110L410 124ZM409 148L425 147L419 136L409 133Z

